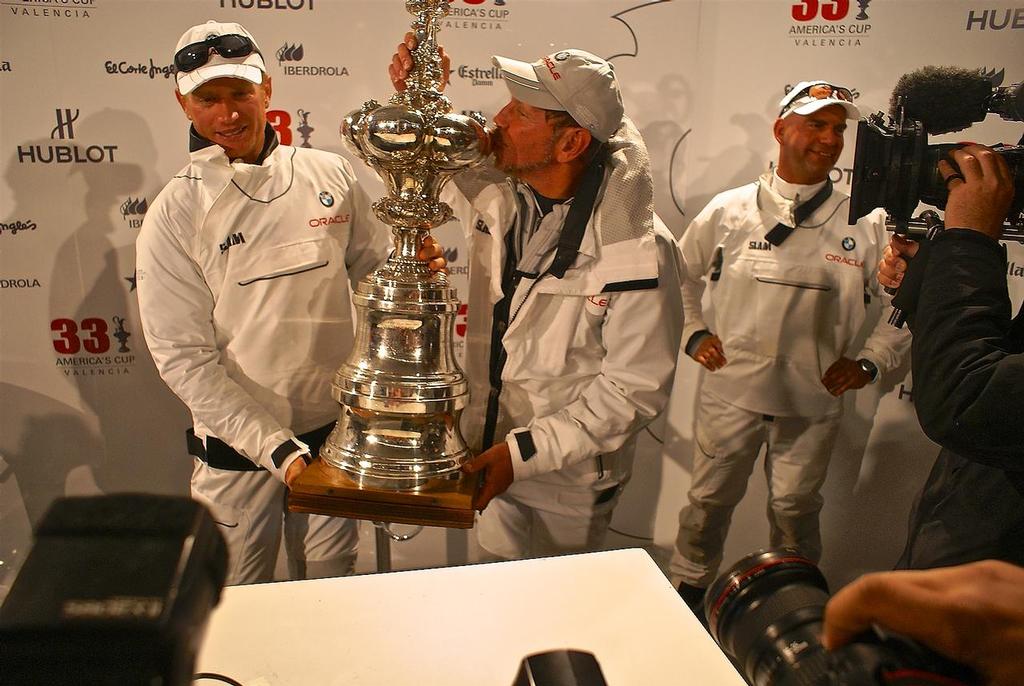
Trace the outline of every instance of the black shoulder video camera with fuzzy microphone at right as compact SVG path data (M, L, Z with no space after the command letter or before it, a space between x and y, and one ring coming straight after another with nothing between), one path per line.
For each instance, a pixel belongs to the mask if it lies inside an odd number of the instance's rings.
M850 223L885 208L890 230L915 240L940 226L929 211L913 218L919 203L945 209L948 190L938 164L955 143L929 145L928 135L951 133L988 114L1024 120L1024 82L993 87L984 74L953 67L925 67L900 77L890 99L889 117L878 112L860 120L853 161ZM1024 143L1024 138L1021 139ZM1014 177L1014 200L1007 216L1012 233L1024 234L1024 145L989 145L1006 160Z

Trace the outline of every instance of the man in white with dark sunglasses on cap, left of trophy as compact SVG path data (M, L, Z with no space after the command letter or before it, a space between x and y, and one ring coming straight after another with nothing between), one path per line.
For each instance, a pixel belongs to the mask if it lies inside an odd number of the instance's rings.
M278 140L242 26L193 27L174 65L190 160L146 213L137 283L153 358L191 414L191 495L227 540L229 584L271 581L283 533L293 578L349 573L354 523L287 512L286 484L338 417L348 284L383 262L390 231L345 160ZM435 244L420 257L443 266Z

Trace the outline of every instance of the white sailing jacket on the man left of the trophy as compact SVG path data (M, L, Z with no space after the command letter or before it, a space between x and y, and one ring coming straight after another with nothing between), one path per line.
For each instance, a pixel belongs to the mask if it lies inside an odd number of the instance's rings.
M191 153L146 212L136 260L146 343L197 435L280 476L273 451L338 418L347 282L383 262L389 237L337 155L278 145L251 165L217 145Z

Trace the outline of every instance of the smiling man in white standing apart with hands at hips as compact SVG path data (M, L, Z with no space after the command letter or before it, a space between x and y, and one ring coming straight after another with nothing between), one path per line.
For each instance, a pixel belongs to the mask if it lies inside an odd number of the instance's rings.
M860 117L852 100L849 89L825 81L797 84L773 126L778 165L716 196L680 240L683 341L709 372L670 567L692 608L718 572L762 444L771 546L820 558L819 491L841 396L897 367L909 345L882 317L863 346L852 347L867 299L882 297L872 271L885 246L881 212L848 225L849 198L828 178L847 121ZM714 323L700 305L705 278Z

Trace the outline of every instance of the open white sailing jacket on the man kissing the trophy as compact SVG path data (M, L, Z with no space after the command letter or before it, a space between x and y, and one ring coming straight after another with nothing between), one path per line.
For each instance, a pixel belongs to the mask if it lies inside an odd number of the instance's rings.
M472 185L464 180L464 189ZM466 230L471 256L471 398L462 426L469 444L485 449L493 314L502 299L517 190L505 180L467 192L471 199L450 184L444 197ZM541 276L523 277L511 302L495 435L506 437L517 481L594 489L625 482L636 433L668 402L682 328L678 249L656 216L653 231L617 240L623 231L602 225L600 202L564 276L546 273L550 255ZM566 213L556 205L543 221L561 223Z

